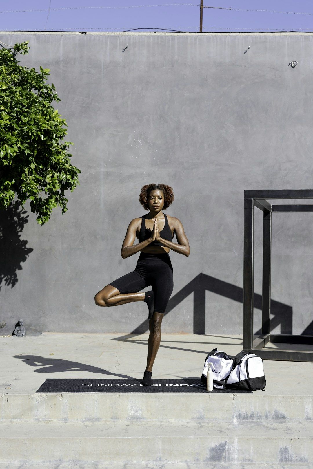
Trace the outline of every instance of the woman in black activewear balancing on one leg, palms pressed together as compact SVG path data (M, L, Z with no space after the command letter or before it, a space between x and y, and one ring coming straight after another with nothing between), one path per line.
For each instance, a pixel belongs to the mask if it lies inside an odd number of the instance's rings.
M131 220L121 250L123 259L141 251L134 271L114 280L95 295L99 306L118 306L133 301L148 305L149 339L147 366L143 384L152 384L152 367L161 340L161 322L173 291L173 267L169 257L172 249L189 256L190 247L183 225L176 217L163 213L174 200L173 189L165 184L142 187L139 202L149 213ZM172 242L176 234L178 244ZM134 244L135 238L138 244ZM137 293L152 286L151 291Z

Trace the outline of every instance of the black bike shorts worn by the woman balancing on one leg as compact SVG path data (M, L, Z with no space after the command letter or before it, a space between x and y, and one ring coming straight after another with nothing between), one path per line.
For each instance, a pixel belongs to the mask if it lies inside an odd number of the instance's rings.
M150 254L141 252L134 271L110 282L120 293L137 293L152 286L154 293L153 312L165 313L172 294L173 267L168 253Z

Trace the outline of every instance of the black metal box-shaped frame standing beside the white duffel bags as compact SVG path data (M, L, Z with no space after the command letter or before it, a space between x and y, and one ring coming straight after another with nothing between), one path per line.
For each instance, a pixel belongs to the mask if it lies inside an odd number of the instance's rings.
M264 349L268 342L285 344L313 344L312 335L271 334L271 238L272 213L313 212L313 204L272 205L267 199L313 199L313 189L245 190L244 191L244 318L243 349L255 351L266 360L313 362L313 349ZM254 264L254 207L263 212L263 271L262 271L262 329L253 335L253 264Z

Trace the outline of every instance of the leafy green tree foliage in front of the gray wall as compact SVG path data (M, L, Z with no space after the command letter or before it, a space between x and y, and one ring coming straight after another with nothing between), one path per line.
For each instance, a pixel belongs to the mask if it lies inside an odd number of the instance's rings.
M53 207L67 211L64 191L73 192L81 170L70 163L73 143L63 140L67 124L52 106L61 99L53 83L46 83L50 70L40 67L37 73L15 59L28 54L27 44L0 49L0 209L8 208L15 194L23 207L30 199L43 225Z

